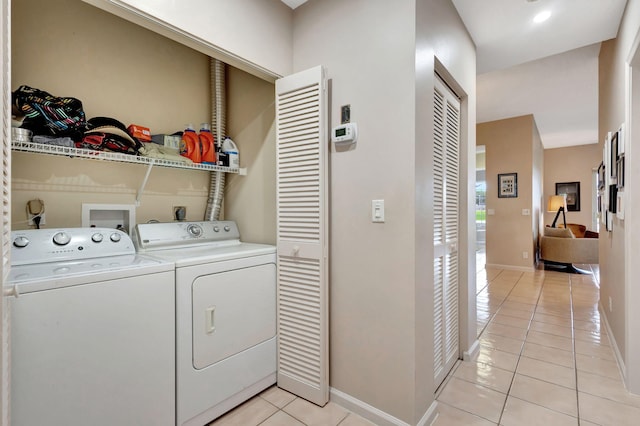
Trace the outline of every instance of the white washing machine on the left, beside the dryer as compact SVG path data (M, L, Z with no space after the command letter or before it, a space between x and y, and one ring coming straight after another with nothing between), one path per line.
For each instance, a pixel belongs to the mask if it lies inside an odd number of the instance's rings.
M115 229L12 241L11 424L174 425L173 264Z

